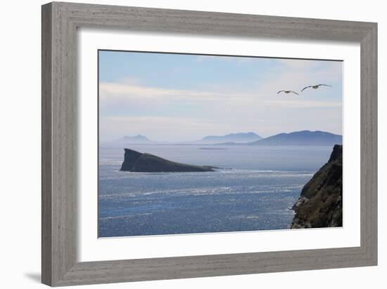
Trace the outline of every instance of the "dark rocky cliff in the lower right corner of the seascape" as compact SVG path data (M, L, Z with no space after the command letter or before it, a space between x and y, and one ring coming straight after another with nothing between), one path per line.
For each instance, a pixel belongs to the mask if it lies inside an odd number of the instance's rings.
M292 208L291 229L343 226L343 146L335 145L328 163L305 184Z

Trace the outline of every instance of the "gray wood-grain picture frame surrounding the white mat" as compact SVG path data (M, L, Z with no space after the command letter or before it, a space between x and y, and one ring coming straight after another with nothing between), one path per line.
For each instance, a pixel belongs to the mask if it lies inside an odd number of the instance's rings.
M360 43L360 247L77 262L78 27ZM376 105L376 23L60 2L42 6L42 282L62 286L376 265Z

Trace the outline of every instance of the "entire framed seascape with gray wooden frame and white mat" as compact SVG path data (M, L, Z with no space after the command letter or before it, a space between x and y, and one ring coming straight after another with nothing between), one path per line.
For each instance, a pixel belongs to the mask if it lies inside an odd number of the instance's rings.
M42 6L42 281L377 263L370 22Z

